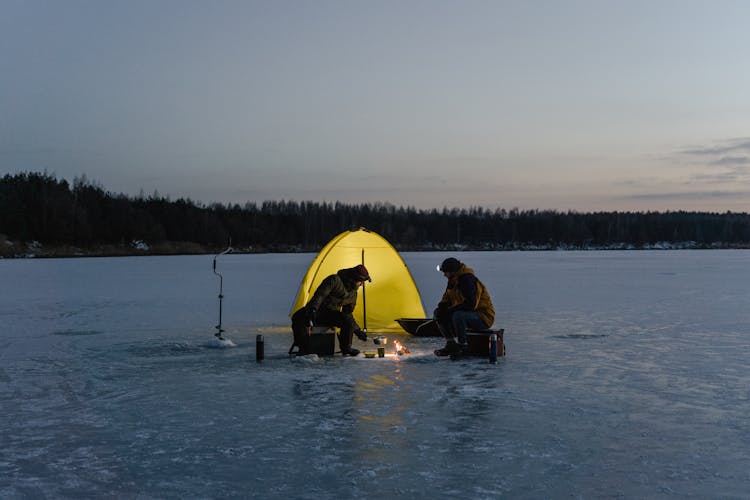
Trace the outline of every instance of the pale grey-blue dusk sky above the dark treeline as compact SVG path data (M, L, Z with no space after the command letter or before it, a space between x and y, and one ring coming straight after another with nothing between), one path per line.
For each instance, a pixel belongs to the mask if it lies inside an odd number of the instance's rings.
M0 0L0 175L750 209L750 1Z

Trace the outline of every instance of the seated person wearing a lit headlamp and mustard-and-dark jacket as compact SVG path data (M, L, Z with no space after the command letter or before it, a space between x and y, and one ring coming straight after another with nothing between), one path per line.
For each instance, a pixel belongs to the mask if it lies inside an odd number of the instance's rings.
M492 327L495 308L487 287L463 262L448 257L438 266L438 271L448 278L448 285L433 318L447 342L435 354L450 356L466 351L467 329L487 330Z

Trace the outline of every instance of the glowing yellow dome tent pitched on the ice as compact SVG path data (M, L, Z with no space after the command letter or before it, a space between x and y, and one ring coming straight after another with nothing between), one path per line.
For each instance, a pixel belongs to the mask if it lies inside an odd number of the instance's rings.
M300 284L291 313L307 304L318 285L339 269L364 264L372 282L357 298L354 318L370 332L403 332L396 318L423 318L414 278L395 248L377 233L359 228L329 241L313 259Z

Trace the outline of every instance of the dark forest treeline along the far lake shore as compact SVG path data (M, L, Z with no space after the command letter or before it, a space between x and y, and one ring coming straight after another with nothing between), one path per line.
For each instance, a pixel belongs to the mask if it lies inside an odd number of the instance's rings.
M0 180L0 256L316 252L364 227L399 251L750 248L750 215L560 212L481 207L417 210L387 203L211 203L72 185L46 172Z

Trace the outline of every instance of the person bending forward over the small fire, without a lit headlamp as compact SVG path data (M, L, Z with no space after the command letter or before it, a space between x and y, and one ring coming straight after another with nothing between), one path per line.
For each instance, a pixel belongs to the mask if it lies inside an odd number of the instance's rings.
M367 340L367 334L359 327L352 315L357 305L357 292L365 281L372 281L363 265L340 269L326 277L315 290L304 307L292 315L294 343L299 346L297 354L310 353L310 329L313 326L339 328L339 347L345 356L356 356L358 349L352 347L352 335Z

